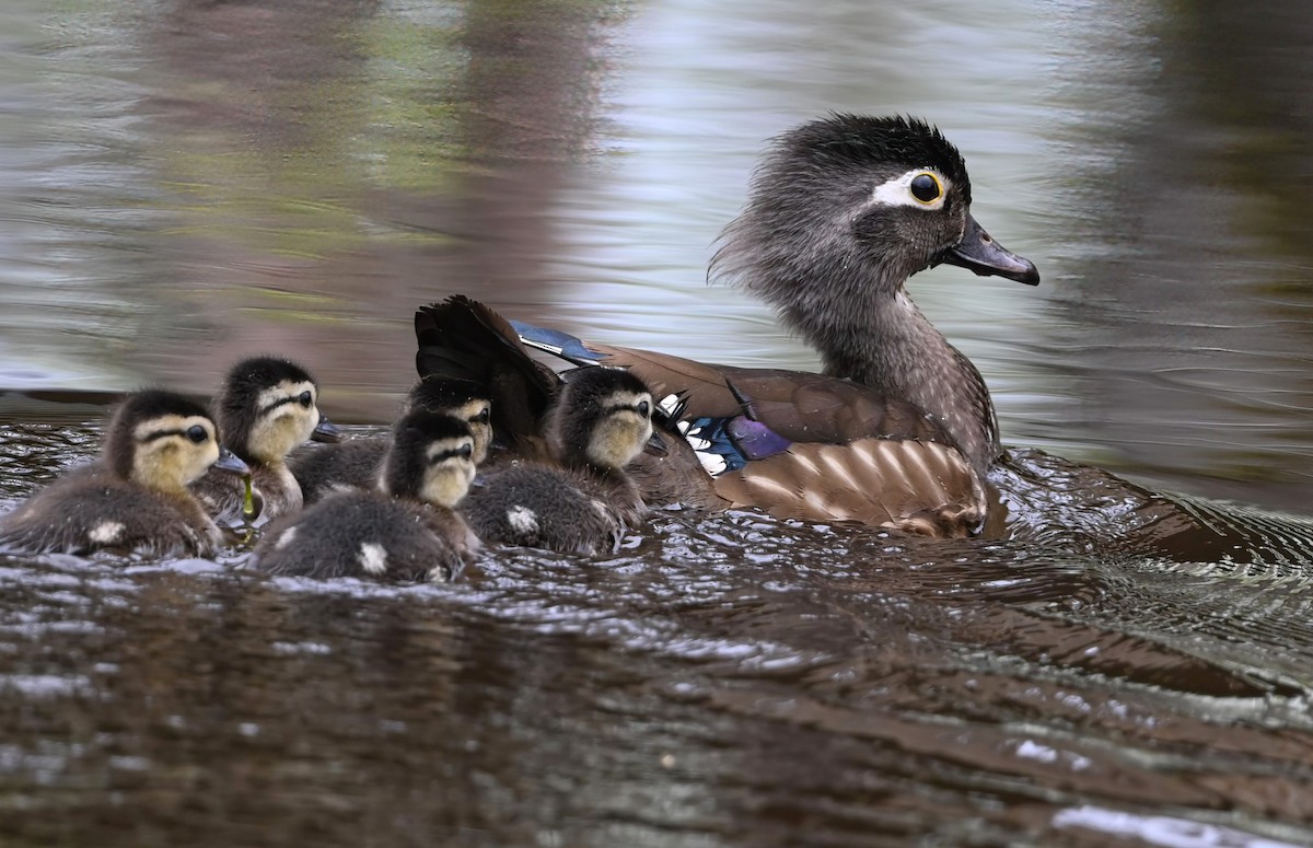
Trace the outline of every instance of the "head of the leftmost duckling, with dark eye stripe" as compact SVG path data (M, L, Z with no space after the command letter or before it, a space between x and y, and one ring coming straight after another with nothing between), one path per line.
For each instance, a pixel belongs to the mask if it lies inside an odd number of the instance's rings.
M127 396L105 432L105 463L119 478L163 492L181 492L210 466L248 473L219 445L218 428L200 403L171 391Z

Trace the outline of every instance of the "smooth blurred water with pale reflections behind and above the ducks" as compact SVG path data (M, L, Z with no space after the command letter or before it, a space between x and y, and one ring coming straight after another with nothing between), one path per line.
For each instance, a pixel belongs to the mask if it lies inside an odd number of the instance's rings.
M1299 1L11 0L0 11L0 423L305 362L381 423L416 305L810 369L705 282L758 154L910 113L1039 289L913 297L1004 438L1310 511L1313 17ZM95 394L88 394L95 398Z

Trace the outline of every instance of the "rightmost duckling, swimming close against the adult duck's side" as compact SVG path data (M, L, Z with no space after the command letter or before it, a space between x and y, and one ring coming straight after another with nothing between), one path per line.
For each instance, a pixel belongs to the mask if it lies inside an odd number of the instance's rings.
M588 366L565 375L548 413L557 465L520 462L470 490L461 505L484 542L563 553L614 550L646 516L625 474L653 435L653 398L625 369Z

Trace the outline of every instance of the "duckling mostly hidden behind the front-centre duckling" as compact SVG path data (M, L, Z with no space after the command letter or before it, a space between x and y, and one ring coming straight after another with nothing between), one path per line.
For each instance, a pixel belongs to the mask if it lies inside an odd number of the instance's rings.
M461 419L474 436L474 463L487 458L492 441L491 400L478 383L463 379L421 379L407 394L407 410L423 407ZM374 488L391 445L390 437L352 438L335 445L302 449L288 467L301 484L306 505L343 487Z

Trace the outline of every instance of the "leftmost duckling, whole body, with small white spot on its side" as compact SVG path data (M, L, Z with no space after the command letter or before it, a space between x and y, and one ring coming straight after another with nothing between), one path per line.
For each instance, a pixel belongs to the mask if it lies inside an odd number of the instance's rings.
M41 490L0 520L0 546L30 553L97 550L211 557L218 526L188 490L207 470L246 474L219 445L205 407L181 395L129 395L105 431L101 458Z

